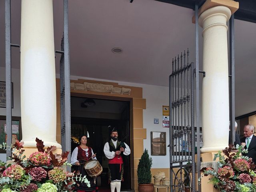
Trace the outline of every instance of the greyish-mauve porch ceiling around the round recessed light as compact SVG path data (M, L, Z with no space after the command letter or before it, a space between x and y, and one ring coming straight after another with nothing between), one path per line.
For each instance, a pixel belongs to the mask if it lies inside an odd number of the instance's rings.
M53 2L55 47L60 50L63 1ZM69 1L70 74L168 86L172 57L190 48L190 61L195 61L193 14L191 9L154 0ZM0 66L4 66L3 0L0 29ZM12 43L20 43L20 1L16 0L12 0ZM236 116L240 116L256 111L255 23L235 20L235 45ZM123 53L113 54L114 47L121 47ZM12 50L12 67L20 68L18 49Z

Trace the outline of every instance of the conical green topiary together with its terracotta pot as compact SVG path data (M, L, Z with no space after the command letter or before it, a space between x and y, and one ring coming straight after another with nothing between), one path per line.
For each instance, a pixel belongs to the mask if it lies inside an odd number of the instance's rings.
M144 150L138 164L138 190L139 192L154 192L154 184L151 183L152 158L148 155L148 150Z

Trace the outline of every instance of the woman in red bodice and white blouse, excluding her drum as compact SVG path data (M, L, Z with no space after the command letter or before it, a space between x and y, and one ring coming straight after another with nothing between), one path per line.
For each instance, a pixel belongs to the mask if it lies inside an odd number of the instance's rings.
M85 183L79 183L76 186L77 192L94 192L96 190L96 185L94 184L94 178L88 176L86 170L84 169L84 164L89 160L95 159L96 154L92 151L92 148L86 146L87 137L82 136L80 139L80 146L76 147L72 152L71 164L75 165L75 170L80 171L82 176L86 175L86 178L90 181L90 187Z

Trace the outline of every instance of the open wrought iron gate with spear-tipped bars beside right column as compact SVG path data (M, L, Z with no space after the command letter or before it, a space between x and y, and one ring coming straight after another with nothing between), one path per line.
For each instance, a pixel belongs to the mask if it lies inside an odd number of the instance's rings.
M189 63L189 50L172 60L169 105L170 189L195 192L194 63Z

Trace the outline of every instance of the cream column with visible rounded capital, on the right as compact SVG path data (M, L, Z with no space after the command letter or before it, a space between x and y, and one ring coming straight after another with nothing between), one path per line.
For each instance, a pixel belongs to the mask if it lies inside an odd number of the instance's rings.
M229 97L228 97L228 41L226 22L231 11L216 6L199 17L203 28L202 81L202 153L217 152L228 146Z

